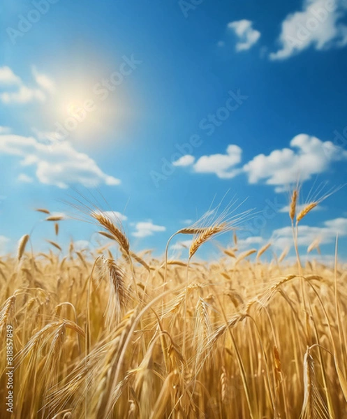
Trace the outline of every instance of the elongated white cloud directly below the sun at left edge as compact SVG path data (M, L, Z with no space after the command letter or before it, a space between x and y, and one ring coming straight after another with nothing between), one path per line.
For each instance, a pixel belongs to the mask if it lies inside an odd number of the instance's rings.
M41 183L59 188L69 184L93 188L120 183L105 175L93 159L77 152L68 141L45 145L32 137L0 135L1 154L20 157L22 166L36 166L36 177Z

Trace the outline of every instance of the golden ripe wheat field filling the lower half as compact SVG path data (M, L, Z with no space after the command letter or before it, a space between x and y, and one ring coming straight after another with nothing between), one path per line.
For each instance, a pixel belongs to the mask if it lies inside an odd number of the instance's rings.
M293 221L295 203L290 211ZM56 242L35 254L25 235L17 256L0 259L1 418L347 418L339 265L301 267L297 254L290 266L285 253L263 263L270 244L250 258L236 237L214 263L191 259L226 223L182 232L194 235L186 262L157 260L133 253L111 219L91 217L118 258L73 243L62 257ZM60 220L46 220L58 235Z

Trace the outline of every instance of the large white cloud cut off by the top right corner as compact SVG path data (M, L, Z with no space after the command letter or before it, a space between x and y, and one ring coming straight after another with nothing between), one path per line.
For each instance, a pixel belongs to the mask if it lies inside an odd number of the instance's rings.
M291 13L282 22L281 47L270 59L286 59L310 46L316 50L344 47L347 26L340 20L346 10L346 0L304 0L302 11Z

